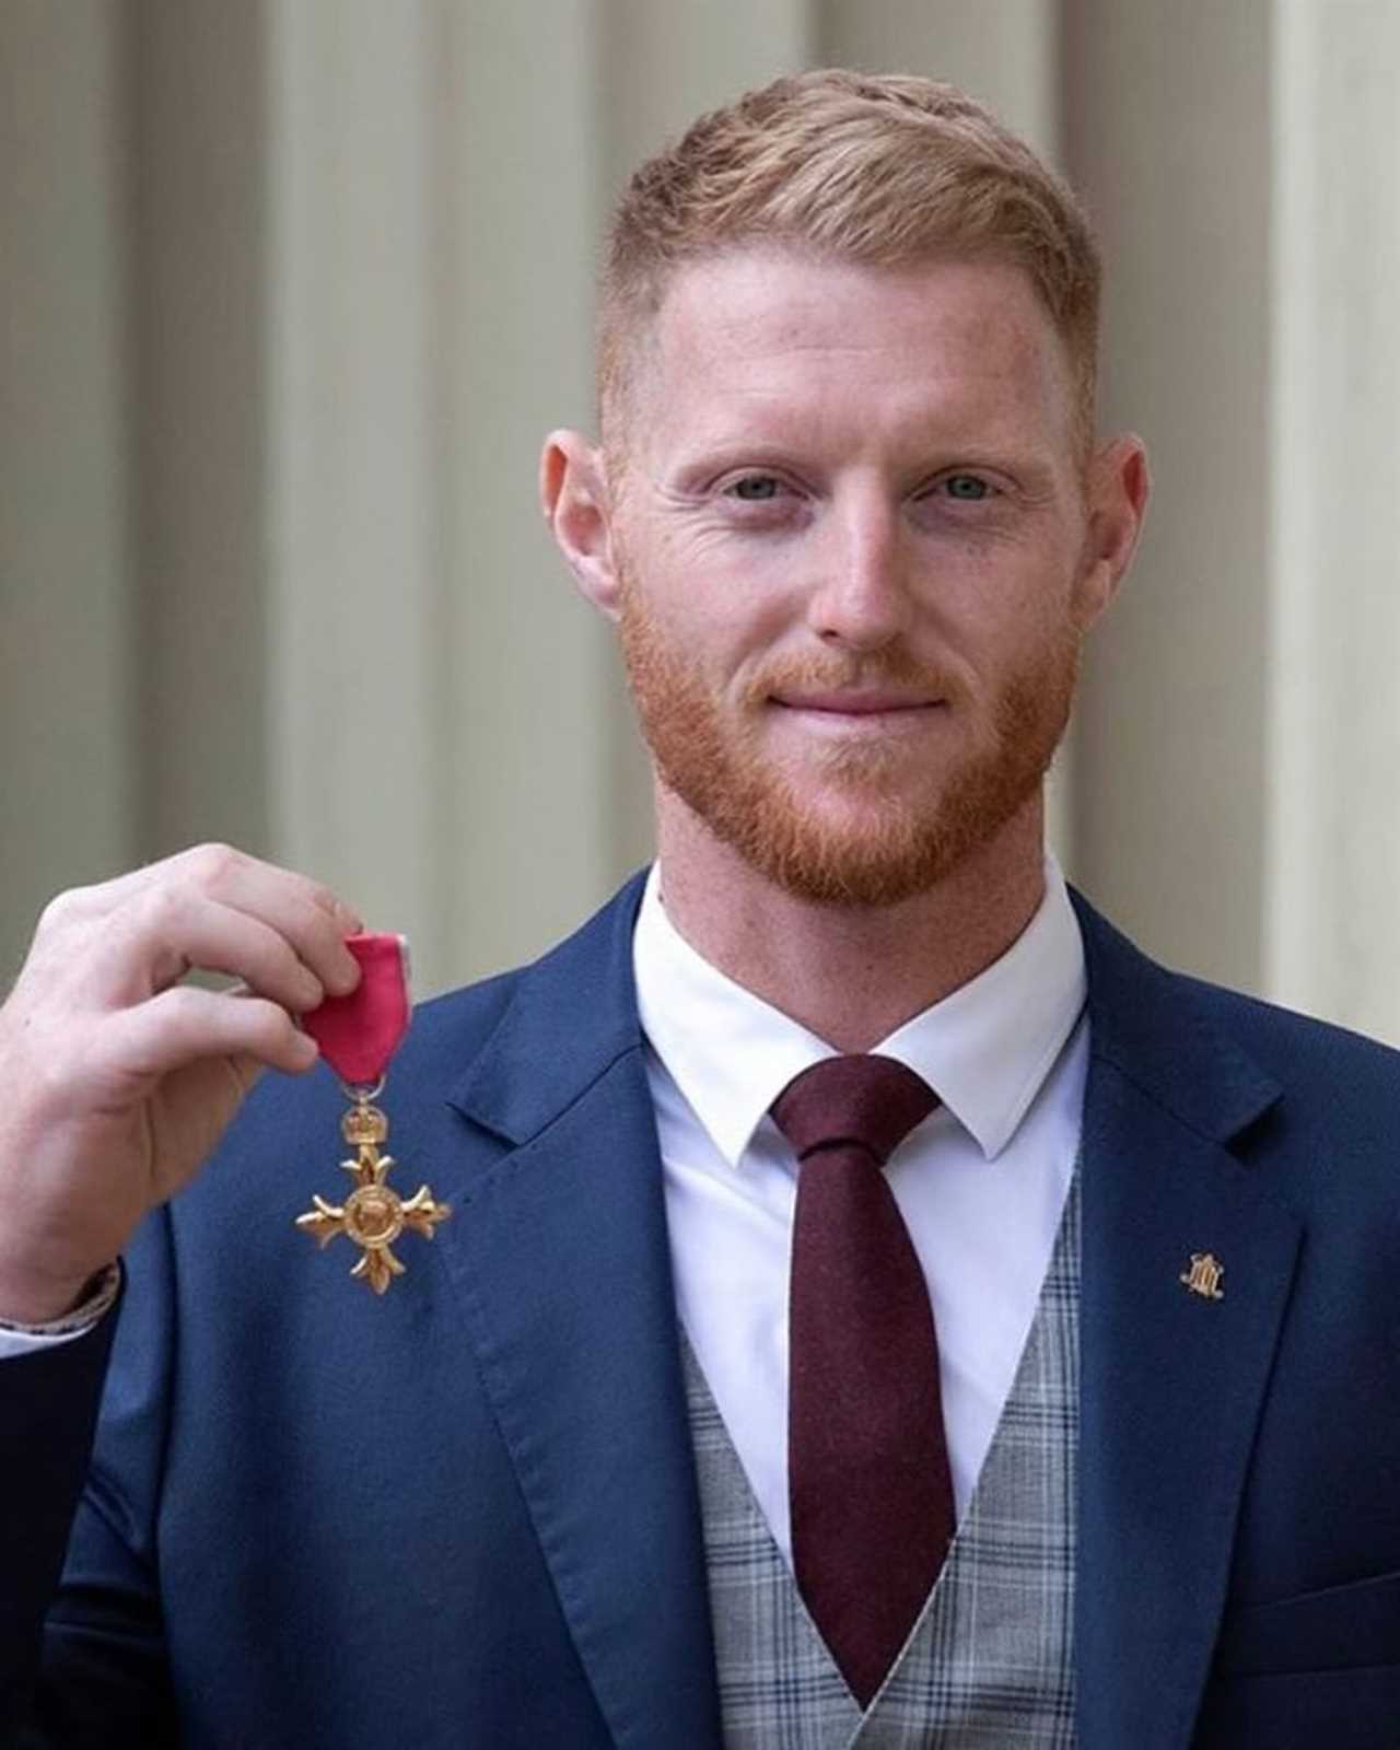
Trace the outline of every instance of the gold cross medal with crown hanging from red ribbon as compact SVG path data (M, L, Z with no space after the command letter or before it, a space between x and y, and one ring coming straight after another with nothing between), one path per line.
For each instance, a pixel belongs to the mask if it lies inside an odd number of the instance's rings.
M387 1183L394 1157L380 1153L388 1139L388 1118L374 1101L383 1092L388 1060L408 1032L408 942L402 936L346 936L346 948L360 962L360 982L345 998L327 998L320 1008L303 1015L301 1026L320 1046L320 1055L340 1076L350 1110L340 1122L340 1134L355 1150L341 1160L355 1180L343 1204L313 1195L313 1208L296 1218L296 1225L318 1246L329 1246L345 1234L360 1248L352 1276L376 1295L387 1293L406 1265L394 1242L408 1230L432 1239L439 1222L452 1214L427 1185L411 1197L399 1197Z

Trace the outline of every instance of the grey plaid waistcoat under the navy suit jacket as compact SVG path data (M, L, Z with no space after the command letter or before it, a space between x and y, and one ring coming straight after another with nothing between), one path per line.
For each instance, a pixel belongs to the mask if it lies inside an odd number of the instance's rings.
M682 1340L728 1750L1073 1750L1078 1312L1076 1174L976 1489L864 1715Z

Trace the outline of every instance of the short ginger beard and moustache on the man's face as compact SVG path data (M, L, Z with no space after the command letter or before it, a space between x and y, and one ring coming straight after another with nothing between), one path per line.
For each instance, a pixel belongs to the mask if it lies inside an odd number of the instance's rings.
M1069 721L1082 634L1064 623L1004 676L984 707L982 746L928 782L910 782L901 738L824 742L803 770L784 770L758 733L782 690L892 684L948 700L964 690L891 646L877 656L822 653L772 663L737 705L667 637L635 578L621 569L620 632L628 682L660 782L760 875L794 898L887 906L928 892L985 845L1038 793Z

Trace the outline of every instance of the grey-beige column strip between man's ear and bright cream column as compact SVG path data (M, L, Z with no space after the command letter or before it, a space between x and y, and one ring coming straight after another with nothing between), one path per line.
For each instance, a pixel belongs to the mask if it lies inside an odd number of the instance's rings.
M1074 868L1169 961L1262 973L1270 9L1069 0L1071 173L1104 240L1104 430L1155 500L1080 702Z

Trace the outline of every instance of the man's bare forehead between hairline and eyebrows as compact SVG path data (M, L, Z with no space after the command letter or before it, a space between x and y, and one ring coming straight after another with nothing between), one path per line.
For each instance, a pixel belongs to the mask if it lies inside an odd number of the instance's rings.
M844 415L1071 443L1064 341L1029 275L998 261L886 268L744 248L688 262L640 374L637 411L656 441Z

